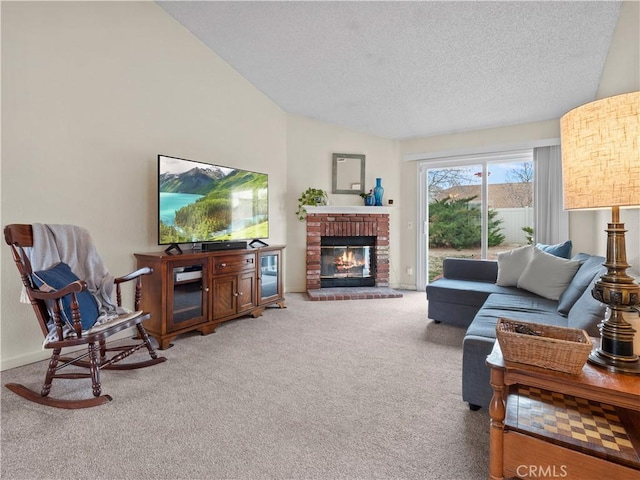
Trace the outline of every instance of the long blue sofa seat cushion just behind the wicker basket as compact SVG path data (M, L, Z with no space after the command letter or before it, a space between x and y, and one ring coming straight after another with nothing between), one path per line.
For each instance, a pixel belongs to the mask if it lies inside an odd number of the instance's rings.
M487 298L465 335L496 338L496 324L500 317L567 326L567 319L556 311L556 302L553 300L537 296L493 294Z

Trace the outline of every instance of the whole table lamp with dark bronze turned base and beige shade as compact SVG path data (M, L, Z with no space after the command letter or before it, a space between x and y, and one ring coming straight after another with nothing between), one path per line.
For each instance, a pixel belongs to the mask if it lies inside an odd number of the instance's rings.
M635 330L624 318L640 307L640 286L627 275L620 207L640 206L640 92L604 98L571 110L560 120L564 207L611 208L607 272L591 291L608 307L600 346L589 362L612 372L640 375ZM639 333L640 334L640 333Z

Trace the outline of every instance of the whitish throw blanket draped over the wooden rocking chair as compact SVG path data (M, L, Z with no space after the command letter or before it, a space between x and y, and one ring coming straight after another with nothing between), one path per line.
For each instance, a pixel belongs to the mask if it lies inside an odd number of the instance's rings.
M33 247L25 248L25 252L34 272L64 262L87 283L87 289L98 302L96 325L128 312L113 301L114 277L104 266L86 229L75 225L34 223Z

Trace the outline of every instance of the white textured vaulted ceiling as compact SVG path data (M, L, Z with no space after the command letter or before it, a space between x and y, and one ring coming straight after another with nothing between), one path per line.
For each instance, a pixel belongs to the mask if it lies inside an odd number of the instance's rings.
M620 2L158 2L286 112L388 138L595 99Z

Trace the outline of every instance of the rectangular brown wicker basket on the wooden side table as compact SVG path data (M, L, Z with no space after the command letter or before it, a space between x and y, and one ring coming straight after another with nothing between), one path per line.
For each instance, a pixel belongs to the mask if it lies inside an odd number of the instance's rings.
M584 330L509 318L498 319L496 336L505 360L573 375L582 371L593 348Z

